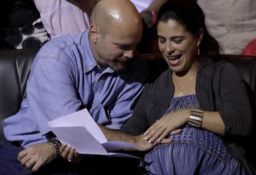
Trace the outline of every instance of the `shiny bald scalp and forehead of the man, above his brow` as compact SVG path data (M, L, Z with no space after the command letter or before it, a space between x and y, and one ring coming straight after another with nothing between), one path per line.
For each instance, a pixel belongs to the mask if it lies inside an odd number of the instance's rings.
M129 0L102 0L92 11L92 25L96 25L102 36L119 25L122 28L142 24L141 16Z

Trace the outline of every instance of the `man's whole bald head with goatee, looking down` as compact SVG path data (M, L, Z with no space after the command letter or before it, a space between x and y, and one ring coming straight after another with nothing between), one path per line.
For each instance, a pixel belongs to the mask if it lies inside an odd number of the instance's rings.
M101 0L94 7L89 42L102 69L125 69L141 36L142 19L130 0Z

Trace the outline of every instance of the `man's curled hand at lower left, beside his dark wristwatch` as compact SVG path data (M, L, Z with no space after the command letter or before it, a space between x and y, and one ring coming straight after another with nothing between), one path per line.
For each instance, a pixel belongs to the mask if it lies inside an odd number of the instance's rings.
M55 159L56 150L48 143L32 145L19 152L18 160L27 168L36 172L40 167Z

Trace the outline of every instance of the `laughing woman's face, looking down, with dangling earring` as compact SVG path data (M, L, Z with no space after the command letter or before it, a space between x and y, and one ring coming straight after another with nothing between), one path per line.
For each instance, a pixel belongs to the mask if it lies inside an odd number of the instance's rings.
M164 59L175 72L191 69L197 60L197 44L200 44L203 32L193 36L183 25L175 20L158 23L158 46Z

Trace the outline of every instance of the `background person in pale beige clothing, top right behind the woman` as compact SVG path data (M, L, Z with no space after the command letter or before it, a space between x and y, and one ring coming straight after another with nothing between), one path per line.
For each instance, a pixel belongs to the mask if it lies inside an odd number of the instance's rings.
M225 54L241 54L256 36L255 0L197 0L206 23Z

